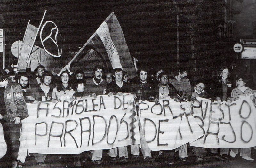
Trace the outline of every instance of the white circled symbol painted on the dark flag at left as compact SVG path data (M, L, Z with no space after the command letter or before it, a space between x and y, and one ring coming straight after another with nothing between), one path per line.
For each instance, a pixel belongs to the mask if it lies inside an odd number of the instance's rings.
M51 29L51 32L47 32L47 33L50 33L48 36L46 36L44 39L42 39L42 33L43 33L43 31L44 31L44 27L47 25L47 24L53 24L55 27L53 27L52 29ZM55 36L54 36L54 39L51 37L54 33L53 33L53 31L56 31L56 33L55 33ZM49 55L51 55L51 56L53 56L53 57L60 57L61 56L61 53L62 53L62 49L60 49L59 50L59 46L58 46L58 44L57 44L57 36L58 36L58 33L59 33L59 29L57 28L57 25L54 23L54 22L52 22L52 21L46 21L45 23L44 23L44 25L42 26L42 29L41 29L41 31L40 31L40 39L41 39L41 43L42 43L42 45L43 45L43 47L44 47L44 50L49 54ZM45 48L45 46L44 46L44 42L46 41L46 40L48 40L48 39L51 39L52 40L52 42L57 46L57 49L58 49L58 55L54 55L54 54L52 54L52 53L50 53L46 48Z

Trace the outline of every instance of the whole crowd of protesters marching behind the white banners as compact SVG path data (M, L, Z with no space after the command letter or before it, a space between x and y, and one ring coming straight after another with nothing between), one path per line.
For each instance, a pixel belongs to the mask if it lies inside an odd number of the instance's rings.
M135 104L138 110L139 100L148 100L158 103L160 99L172 98L177 102L193 101L197 97L227 101L228 104L245 96L251 96L255 102L254 92L247 84L249 78L245 75L237 77L237 87L234 87L229 81L229 69L220 68L218 78L207 86L203 81L198 81L191 88L189 79L186 77L186 70L179 68L167 73L165 69L157 69L151 73L146 67L140 67L138 77L129 79L129 76L121 68L105 73L100 65L93 68L93 77L85 79L82 70L73 73L69 65L61 69L57 76L46 71L44 66L39 65L34 72L31 71L31 60L27 58L27 69L24 73L17 76L12 69L5 68L0 74L0 157L7 154L12 161L12 167L22 167L22 162L27 157L27 151L22 151L19 147L25 137L22 137L22 120L28 117L26 103L38 103L39 101L57 102L61 100L73 101L75 99L84 99L87 97L97 98L102 94L108 96L131 93L134 95ZM209 88L212 88L209 91ZM207 92L207 90L209 92ZM140 127L140 132L142 128ZM4 138L3 138L4 134ZM6 148L6 143L7 148ZM175 150L151 151L145 140L145 135L140 133L141 152L145 162L155 162L157 157L163 156L164 161L173 164L175 161L175 152L179 151L179 158L186 161L188 157L187 144ZM131 156L139 159L139 145L130 145ZM102 161L102 151L86 151L81 154L61 154L59 159L64 166L68 166L70 158L74 159L75 166L86 166L88 158L95 164ZM219 159L229 159L235 157L240 151L240 156L244 160L254 161L251 158L251 148L229 149L229 148L199 148L193 147L193 152L197 160L203 160L206 152ZM108 152L112 160L118 160L121 163L127 162L128 150L126 146L110 149ZM39 166L46 166L44 163L47 154L34 154ZM118 158L119 157L119 158Z

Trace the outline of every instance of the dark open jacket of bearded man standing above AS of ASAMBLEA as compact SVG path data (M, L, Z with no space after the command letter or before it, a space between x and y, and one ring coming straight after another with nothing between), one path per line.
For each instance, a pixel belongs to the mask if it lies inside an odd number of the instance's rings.
M36 88L32 89L32 97L34 97L37 101L42 101L42 96L45 96L44 91L40 87L41 84L38 84ZM47 93L47 97L45 97L45 101L52 101L52 90L53 86L50 85L50 90Z

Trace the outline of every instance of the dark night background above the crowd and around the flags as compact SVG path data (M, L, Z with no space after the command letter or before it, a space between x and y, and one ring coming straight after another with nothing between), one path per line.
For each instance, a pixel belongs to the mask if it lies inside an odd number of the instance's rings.
M17 64L10 46L22 40L29 19L38 27L44 10L52 15L65 37L67 54L78 51L77 46L85 44L106 17L115 12L131 56L139 59L139 65L167 70L182 66L192 83L209 81L220 67L231 67L237 62L233 45L241 38L256 37L255 0L1 0L0 5L0 28L6 33L6 66ZM228 22L234 24L223 30ZM249 65L247 75L255 78L255 61L238 60L236 66L243 69L243 61Z

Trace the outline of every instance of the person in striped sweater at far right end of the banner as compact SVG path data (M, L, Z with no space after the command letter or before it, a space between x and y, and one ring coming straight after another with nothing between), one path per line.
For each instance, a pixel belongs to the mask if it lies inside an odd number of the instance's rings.
M236 79L237 79L237 87L232 90L230 100L235 101L245 96L251 96L251 100L254 101L255 103L254 92L252 91L252 89L247 87L247 84L249 84L249 78L247 76L242 76L242 77L237 77ZM230 156L234 158L237 153L238 153L238 149L231 149ZM250 162L254 161L254 159L251 158L251 148L241 148L240 156L242 156L244 160L247 160Z

